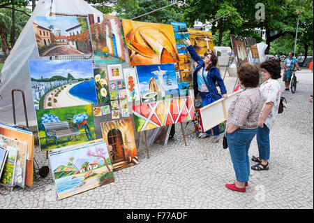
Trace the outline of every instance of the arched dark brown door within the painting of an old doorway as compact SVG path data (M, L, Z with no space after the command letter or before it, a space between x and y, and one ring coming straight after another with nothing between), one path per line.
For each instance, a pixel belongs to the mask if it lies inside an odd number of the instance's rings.
M108 145L112 146L112 164L125 160L123 139L119 129L112 129L107 135Z

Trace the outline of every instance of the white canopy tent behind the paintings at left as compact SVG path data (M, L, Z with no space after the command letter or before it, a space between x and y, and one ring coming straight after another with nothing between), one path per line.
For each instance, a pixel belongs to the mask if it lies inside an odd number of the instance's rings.
M93 13L102 14L83 0L40 0L37 3L35 10L33 10L29 21L22 30L0 73L0 122L13 124L11 91L13 89L20 89L25 94L29 126L36 125L36 113L31 94L28 60L50 59L50 57L40 58L38 55L36 38L33 31L33 21L36 16L87 16ZM25 124L23 101L19 93L15 93L15 113L17 124Z

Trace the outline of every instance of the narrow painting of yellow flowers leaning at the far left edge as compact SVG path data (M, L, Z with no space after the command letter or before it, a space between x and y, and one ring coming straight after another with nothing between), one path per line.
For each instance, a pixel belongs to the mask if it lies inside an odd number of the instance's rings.
M14 177L15 177L15 166L17 161L17 150L15 148L12 148L8 146L6 148L8 150L8 157L6 158L6 163L4 164L3 173L0 178L0 182L3 185L9 186L6 187L8 191L13 190L14 185Z

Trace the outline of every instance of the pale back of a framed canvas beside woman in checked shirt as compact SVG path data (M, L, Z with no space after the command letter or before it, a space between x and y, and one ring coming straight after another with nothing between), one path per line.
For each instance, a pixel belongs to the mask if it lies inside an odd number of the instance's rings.
M227 110L230 107L235 96L240 94L242 90L229 94L227 99L219 99L203 108L200 108L200 120L203 131L207 131L217 124L227 120Z

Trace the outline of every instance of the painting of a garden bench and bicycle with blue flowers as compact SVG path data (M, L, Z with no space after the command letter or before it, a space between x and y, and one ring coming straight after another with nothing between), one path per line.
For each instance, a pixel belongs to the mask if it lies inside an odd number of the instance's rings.
M96 138L91 105L36 110L36 117L41 151Z

